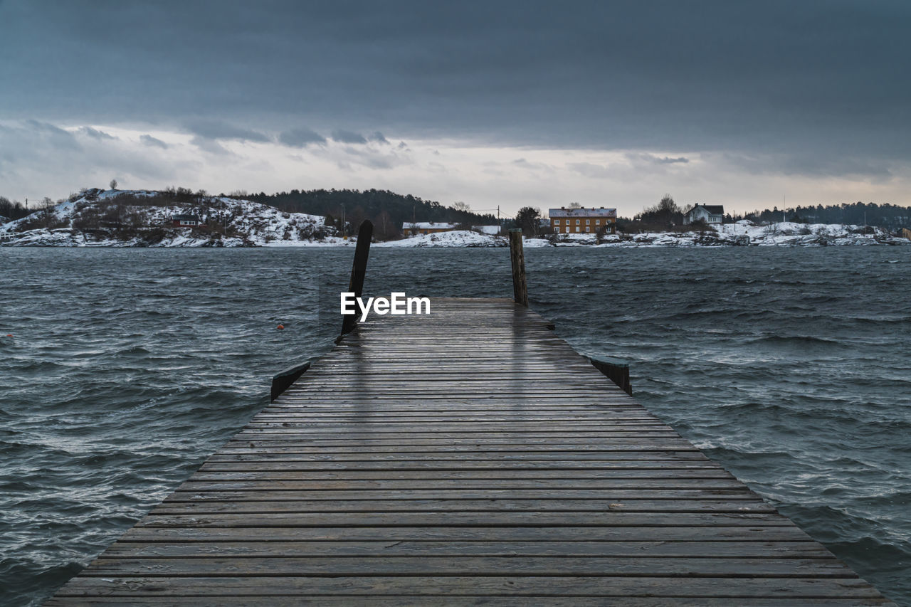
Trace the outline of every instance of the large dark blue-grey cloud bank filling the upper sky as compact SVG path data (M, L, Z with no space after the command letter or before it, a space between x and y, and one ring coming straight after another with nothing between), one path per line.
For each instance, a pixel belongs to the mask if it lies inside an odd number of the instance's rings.
M497 145L787 153L823 164L855 156L874 169L911 159L911 3L896 0L230 9L36 0L0 4L0 23L0 82L16 89L3 101L10 119L202 121L200 137L285 130L282 143L298 147L324 139L289 123ZM59 94L98 82L116 94Z

